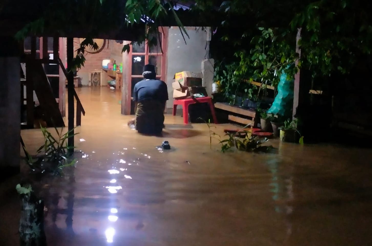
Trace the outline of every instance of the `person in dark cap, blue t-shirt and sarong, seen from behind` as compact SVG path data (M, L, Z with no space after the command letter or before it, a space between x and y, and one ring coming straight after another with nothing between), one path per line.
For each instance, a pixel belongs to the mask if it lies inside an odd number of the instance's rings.
M135 129L143 134L160 134L164 127L164 111L168 100L168 88L164 81L156 79L155 66L143 68L144 80L135 84ZM129 122L128 122L129 124Z

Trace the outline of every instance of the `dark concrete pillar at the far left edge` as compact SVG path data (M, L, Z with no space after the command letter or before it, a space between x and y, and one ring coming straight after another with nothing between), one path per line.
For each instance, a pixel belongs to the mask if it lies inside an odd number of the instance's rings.
M0 180L19 173L20 59L17 41L1 37L0 46Z

